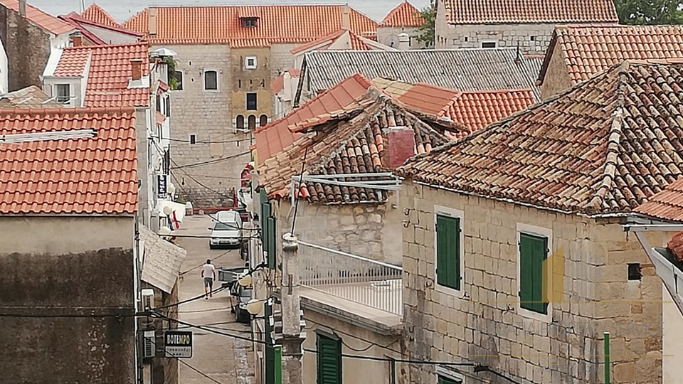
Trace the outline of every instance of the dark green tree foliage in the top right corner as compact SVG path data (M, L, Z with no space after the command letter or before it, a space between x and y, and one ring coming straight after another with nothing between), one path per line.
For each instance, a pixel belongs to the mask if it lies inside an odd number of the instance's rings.
M619 22L631 25L683 23L683 0L615 0Z

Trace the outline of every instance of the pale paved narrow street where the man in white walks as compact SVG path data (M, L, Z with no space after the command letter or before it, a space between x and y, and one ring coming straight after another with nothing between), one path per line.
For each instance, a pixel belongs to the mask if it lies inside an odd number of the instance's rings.
M182 228L176 230L178 235L208 236L207 228L211 226L211 218L207 215L187 216ZM179 238L177 244L187 250L187 257L181 268L184 273L180 279L181 301L196 297L203 293L201 265L211 259L218 267L237 267L243 265L237 249L209 250L207 238ZM216 272L218 278L218 272ZM221 287L214 282L214 289ZM227 290L218 292L213 298L198 299L181 304L179 318L187 323L202 326L218 327L218 331L228 334L249 337L249 326L235 321L231 313L231 297ZM182 384L251 384L253 376L253 349L249 341L213 334L208 331L193 329L194 355L181 361L180 380ZM208 375L206 378L189 366Z

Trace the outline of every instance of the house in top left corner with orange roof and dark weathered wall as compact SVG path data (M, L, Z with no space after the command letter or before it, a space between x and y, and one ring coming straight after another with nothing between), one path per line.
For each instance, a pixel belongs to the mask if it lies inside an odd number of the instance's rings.
M0 93L41 85L51 53L68 46L75 31L26 0L0 1Z

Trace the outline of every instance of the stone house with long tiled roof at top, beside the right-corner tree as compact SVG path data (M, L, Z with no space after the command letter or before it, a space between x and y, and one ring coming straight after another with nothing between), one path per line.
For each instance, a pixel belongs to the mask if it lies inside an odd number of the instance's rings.
M435 47L519 47L543 55L558 24L618 22L612 0L438 0Z

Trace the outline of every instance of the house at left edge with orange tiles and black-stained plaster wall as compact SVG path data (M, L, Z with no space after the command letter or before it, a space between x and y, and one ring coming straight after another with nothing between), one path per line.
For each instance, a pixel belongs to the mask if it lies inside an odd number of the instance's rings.
M0 134L2 382L135 383L134 110L0 110Z

